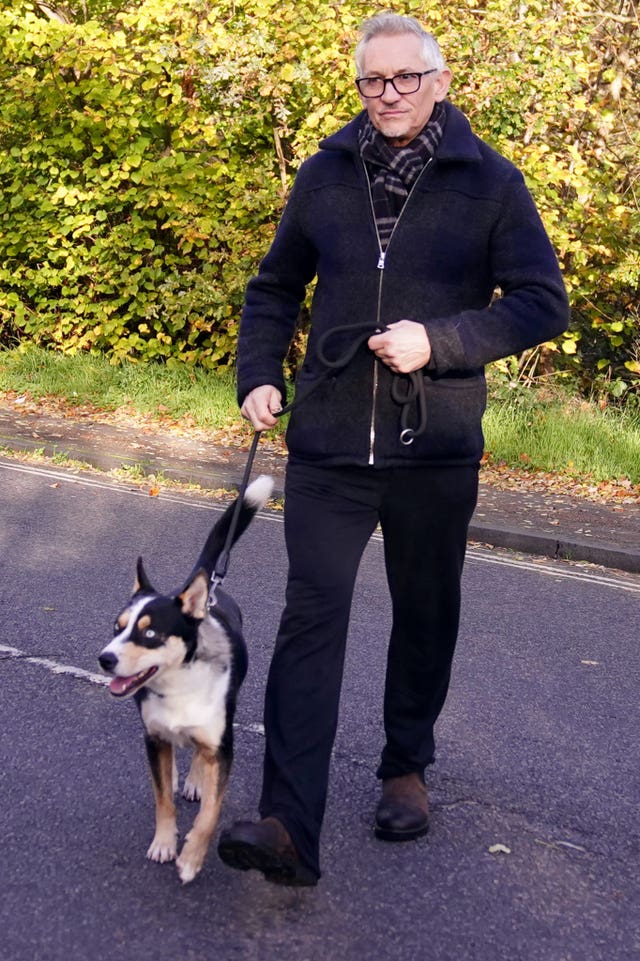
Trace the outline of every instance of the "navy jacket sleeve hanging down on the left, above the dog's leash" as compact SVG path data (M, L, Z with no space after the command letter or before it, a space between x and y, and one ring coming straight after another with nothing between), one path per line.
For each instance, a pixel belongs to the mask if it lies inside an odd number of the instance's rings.
M302 227L304 191L299 180L300 173L271 248L247 285L238 337L240 404L255 387L265 384L277 387L286 400L283 362L317 262Z

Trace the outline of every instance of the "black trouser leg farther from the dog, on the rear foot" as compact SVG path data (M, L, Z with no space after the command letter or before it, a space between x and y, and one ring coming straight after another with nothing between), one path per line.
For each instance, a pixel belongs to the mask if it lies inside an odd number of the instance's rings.
M378 777L424 771L451 675L475 467L393 472L381 507L393 608Z

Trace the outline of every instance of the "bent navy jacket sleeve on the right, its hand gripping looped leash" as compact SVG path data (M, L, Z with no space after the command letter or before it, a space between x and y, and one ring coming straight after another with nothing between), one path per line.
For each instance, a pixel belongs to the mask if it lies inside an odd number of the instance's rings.
M426 324L437 375L473 370L563 333L569 304L560 268L522 174L505 184L489 238L495 286L490 306Z

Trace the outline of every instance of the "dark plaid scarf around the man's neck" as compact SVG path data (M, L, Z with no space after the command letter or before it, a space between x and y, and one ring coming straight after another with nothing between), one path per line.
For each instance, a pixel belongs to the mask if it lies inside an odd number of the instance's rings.
M409 191L438 148L445 120L444 105L436 103L426 126L406 147L389 146L368 117L360 127L360 155L371 182L373 209L383 250L387 249Z

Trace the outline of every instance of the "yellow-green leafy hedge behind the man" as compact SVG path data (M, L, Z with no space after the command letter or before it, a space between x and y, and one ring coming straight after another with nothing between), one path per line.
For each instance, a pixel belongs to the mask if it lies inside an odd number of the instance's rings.
M453 99L536 196L573 305L555 366L622 394L640 375L640 40L632 5L610 7L398 9L438 36ZM232 364L244 287L295 171L358 109L352 50L371 12L0 4L1 342Z

